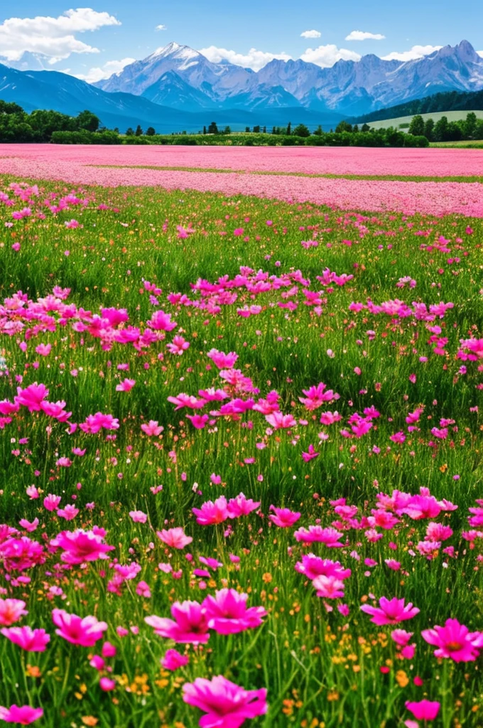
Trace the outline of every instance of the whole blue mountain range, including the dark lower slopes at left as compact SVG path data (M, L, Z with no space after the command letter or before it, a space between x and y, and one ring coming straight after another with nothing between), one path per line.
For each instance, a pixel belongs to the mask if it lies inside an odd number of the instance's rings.
M198 130L215 119L233 129L254 124L332 126L442 91L483 89L483 58L471 43L444 46L402 62L364 55L321 68L303 60L271 60L260 71L227 60L212 63L177 43L159 48L95 84L42 68L44 58L0 64L0 98L25 110L54 108L77 114L89 108L106 126L152 125L159 132Z

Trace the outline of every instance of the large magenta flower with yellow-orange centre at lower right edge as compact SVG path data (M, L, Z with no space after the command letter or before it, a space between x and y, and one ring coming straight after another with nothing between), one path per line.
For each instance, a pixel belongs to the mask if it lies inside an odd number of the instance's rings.
M444 627L421 632L428 644L436 646L434 657L451 657L455 662L473 662L483 649L483 632L470 632L458 620L446 620Z

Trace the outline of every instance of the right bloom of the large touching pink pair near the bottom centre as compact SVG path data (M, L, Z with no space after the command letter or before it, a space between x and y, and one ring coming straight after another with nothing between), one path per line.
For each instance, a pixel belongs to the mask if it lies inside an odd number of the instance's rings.
M229 635L244 630L260 627L266 610L263 606L251 606L247 609L248 594L235 589L221 589L215 596L207 596L203 604L205 617L210 630L218 634Z

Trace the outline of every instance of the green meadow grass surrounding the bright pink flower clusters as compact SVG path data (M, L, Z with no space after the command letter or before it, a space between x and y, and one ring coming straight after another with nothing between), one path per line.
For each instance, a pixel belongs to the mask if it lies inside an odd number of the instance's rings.
M0 189L9 181L3 178ZM41 199L48 191L62 196L71 190L65 183L39 185ZM12 377L21 376L23 382L1 377L0 400L12 399L17 386L44 382L49 400L65 400L73 422L103 411L118 417L121 427L113 441L80 430L68 435L65 424L52 422L52 429L46 430L45 416L23 408L0 431L0 522L20 528L21 518L39 518L39 529L30 536L42 543L63 529L103 526L106 541L116 547L113 557L123 564L137 561L142 570L135 581L124 585L122 596L107 590L112 577L108 561L56 569L58 553L49 555L44 566L28 571L31 583L12 586L4 581L9 595L27 602L28 616L20 623L46 628L52 640L44 653L24 653L1 638L0 705L42 705L45 714L39 728L81 728L89 716L100 728L191 728L200 713L183 703L181 684L221 673L246 688L268 689L268 714L247 721L250 728L401 728L412 717L405 701L425 696L444 702L434 728L481 727L481 664L440 664L420 631L441 625L448 617L457 617L471 630L481 629L483 623L481 563L476 561L481 539L473 549L461 538L461 531L468 529L468 507L482 495L482 392L476 389L482 375L477 363L456 358L460 339L483 336L482 221L456 215L364 217L310 204L156 188L92 187L82 196L90 199L85 209L76 207L56 217L47 210L44 220L27 218L12 229L4 228L12 208L0 207L1 299L22 290L36 300L60 285L71 288L67 300L76 306L92 312L100 306L125 307L129 323L144 328L155 309L143 291L148 280L162 289L159 306L172 313L191 346L179 357L169 355L163 342L145 352L121 344L103 349L100 339L73 331L69 323L55 331L39 331L31 322L26 336L25 328L14 336L1 336L0 353L3 349ZM110 209L97 210L100 202ZM65 229L64 222L71 218L83 227ZM189 223L196 232L187 239L177 237L177 225ZM468 225L474 234L467 234ZM240 227L244 235L233 235ZM419 230L431 232L420 237L415 235ZM314 232L319 247L304 249L300 242L311 240ZM246 236L249 240L244 240ZM451 253L420 248L439 236L451 241ZM351 245L343 242L347 240ZM11 248L15 242L21 244L19 252ZM447 264L447 258L455 257L460 261ZM304 284L298 286L295 312L276 305L287 300L281 296L286 289L263 293L255 301L246 290L233 289L236 303L222 305L213 314L167 303L169 292L196 298L191 283L234 277L240 266L270 275L300 270L310 278L311 290L321 288L316 276L325 267L354 274L354 279L343 288L335 286L333 293L322 292L327 302L320 316L303 305ZM416 288L396 288L405 276L417 281ZM432 352L427 343L431 332L424 322L348 310L351 301L365 303L367 298L378 304L394 298L409 304L454 302L444 320L434 322L448 338L447 354ZM259 315L244 319L236 314L237 308L253 303L263 305ZM375 331L373 340L367 336L370 330ZM167 334L167 340L174 333ZM18 346L24 338L26 355ZM52 344L48 357L36 355L40 342ZM220 418L216 427L194 430L186 411L175 412L167 397L221 386L216 368L208 367L212 363L207 352L212 347L238 352L236 366L260 387L259 396L277 389L282 411L308 424L298 426L292 435L281 430L268 436L267 422L254 411L241 421ZM330 350L333 357L327 354ZM421 363L420 356L428 361ZM129 363L129 371L117 371L120 363ZM463 363L468 368L464 376L458 373ZM77 376L72 376L73 370ZM409 379L412 373L417 374L415 384ZM124 376L135 379L135 387L129 393L116 392ZM313 418L298 397L319 381L338 392L340 400L324 405ZM348 427L348 416L371 405L381 413L375 427L361 440L343 438L340 429ZM390 435L407 431L405 416L418 405L425 408L420 431L407 433L403 446L392 443ZM477 405L479 411L470 410ZM335 409L343 422L331 427L319 424L320 412ZM428 446L434 439L431 427L438 426L442 417L455 419L458 432L451 430L450 438ZM140 424L150 419L164 427L162 437L154 441L140 432ZM242 422L252 422L252 427ZM319 432L327 432L329 439L319 440ZM19 444L19 438L28 438L28 443ZM258 449L260 442L266 447ZM321 454L305 463L301 452L311 443ZM380 454L373 446L380 447ZM87 452L73 456L74 447ZM73 465L58 467L60 456L71 456ZM255 462L245 462L251 458ZM213 472L221 475L221 485L212 484ZM455 474L460 480L452 479ZM41 492L38 500L25 494L33 483ZM163 490L153 495L150 488L159 484ZM350 613L344 617L336 608L327 612L310 583L294 569L303 553L293 537L295 529L271 526L270 505L300 511L297 526L308 526L317 518L327 526L337 518L330 507L332 499L345 497L348 504L359 507L360 518L371 515L378 491L390 494L399 488L414 494L420 486L430 488L437 499L458 504L458 510L435 519L450 523L454 530L445 545L455 547L455 558L441 551L432 561L413 555L428 521L406 517L395 530L381 531L383 538L374 544L364 537L365 529L348 531L350 543L343 549L314 544L310 549L314 553L352 569L343 600ZM192 507L240 491L261 502L263 515L252 513L231 521L233 534L226 538L227 523L196 525ZM44 510L42 500L49 493L61 495L64 506L76 503L80 513L75 521L62 521ZM87 510L86 504L92 502L94 510ZM133 523L130 510L143 510L148 522ZM195 557L214 555L223 562L223 569L206 579L206 590L197 585L183 552L168 550L157 539L154 531L171 526L185 526L193 536L186 550ZM396 551L390 542L396 543ZM231 564L230 553L240 556L239 569ZM365 558L377 566L365 566ZM400 561L402 571L388 569L387 558ZM172 579L159 570L158 563L167 561L175 570L183 569L182 578ZM151 587L151 598L135 593L139 579ZM144 617L169 616L176 598L201 601L222 585L250 593L250 606L263 604L269 612L266 623L233 636L213 633L207 646L188 649L187 668L174 674L161 671L159 658L173 645L154 636ZM52 597L52 586L60 587L65 599ZM399 625L415 633L412 660L396 659L388 638L391 627L376 627L360 612L365 601L372 604L371 594L404 596L420 608L414 620ZM118 648L116 657L108 660L116 680L113 693L100 691L97 673L89 666L89 655L99 654L100 643L81 648L57 637L50 619L54 606L81 616L95 614L108 622L108 639ZM137 626L139 634L118 638L118 625ZM385 666L391 668L386 675L380 672ZM423 687L415 687L415 676L423 679Z

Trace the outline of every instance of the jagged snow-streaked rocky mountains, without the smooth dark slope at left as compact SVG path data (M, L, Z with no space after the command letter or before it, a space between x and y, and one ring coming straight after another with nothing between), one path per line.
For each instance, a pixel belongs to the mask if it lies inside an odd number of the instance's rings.
M212 63L172 41L95 85L108 92L162 98L173 108L190 108L189 103L193 110L303 106L357 115L438 91L480 90L483 58L463 40L405 63L369 54L359 61L338 60L331 68L300 59L275 59L252 71L228 60Z

